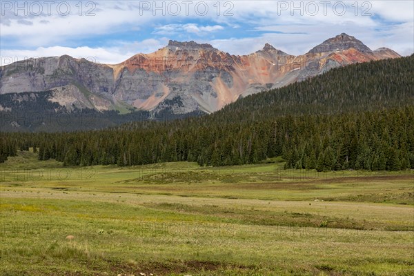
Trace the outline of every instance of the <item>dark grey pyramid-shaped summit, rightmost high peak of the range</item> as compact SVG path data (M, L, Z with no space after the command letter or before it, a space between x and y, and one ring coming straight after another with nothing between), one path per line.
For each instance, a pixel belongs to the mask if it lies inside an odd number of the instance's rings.
M362 43L362 41L359 41L358 39L355 39L355 37L342 32L342 34L339 34L336 37L326 39L326 41L310 50L309 53L315 54L318 52L335 52L337 50L348 50L349 48L354 48L359 52L364 53L372 54L373 52L364 43Z

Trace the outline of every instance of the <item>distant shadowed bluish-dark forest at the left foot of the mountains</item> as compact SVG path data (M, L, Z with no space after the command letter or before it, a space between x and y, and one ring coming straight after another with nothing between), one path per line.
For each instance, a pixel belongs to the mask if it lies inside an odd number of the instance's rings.
M126 114L117 110L98 111L79 109L49 101L52 92L22 92L0 95L0 128L2 132L61 132L96 130L115 127L128 121L164 121L197 117L204 112L194 111L186 115L175 115L171 110L150 112L131 108ZM11 110L11 111L9 111Z

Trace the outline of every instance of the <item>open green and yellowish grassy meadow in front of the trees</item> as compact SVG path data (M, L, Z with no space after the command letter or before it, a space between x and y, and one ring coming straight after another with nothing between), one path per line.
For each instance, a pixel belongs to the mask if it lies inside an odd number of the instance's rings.
M0 274L414 275L413 171L283 165L81 168L19 152L0 164Z

